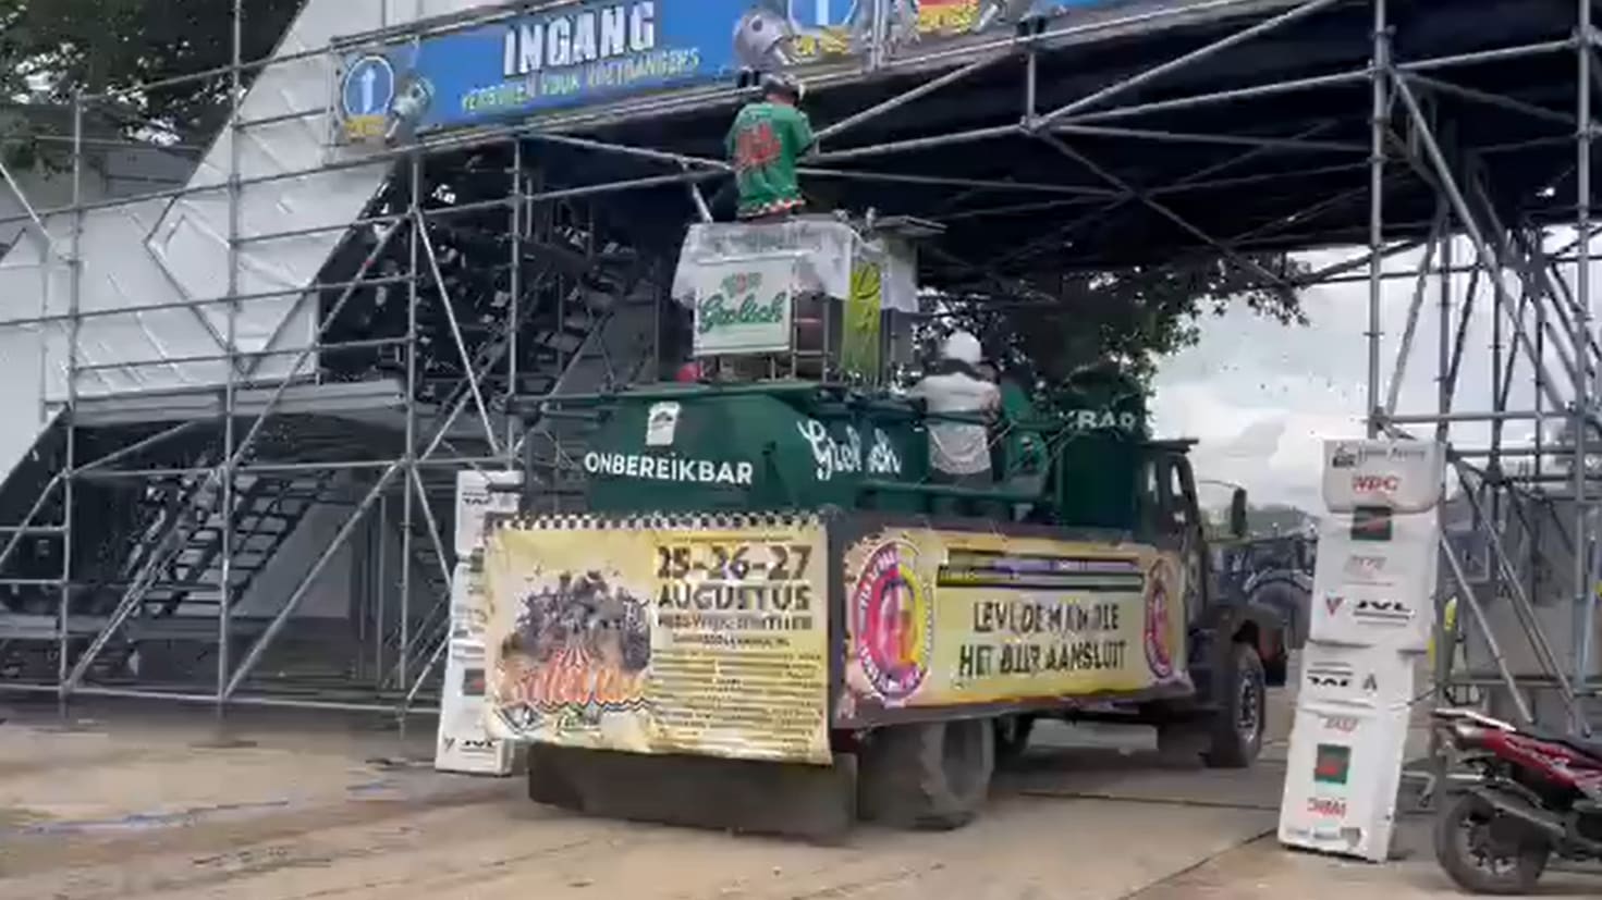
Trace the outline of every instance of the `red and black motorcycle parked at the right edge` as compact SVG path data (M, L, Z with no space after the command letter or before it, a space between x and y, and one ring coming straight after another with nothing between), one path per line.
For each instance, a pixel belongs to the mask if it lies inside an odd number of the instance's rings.
M1528 894L1551 857L1602 858L1602 740L1544 735L1467 709L1435 727L1475 781L1435 820L1435 860L1469 894Z

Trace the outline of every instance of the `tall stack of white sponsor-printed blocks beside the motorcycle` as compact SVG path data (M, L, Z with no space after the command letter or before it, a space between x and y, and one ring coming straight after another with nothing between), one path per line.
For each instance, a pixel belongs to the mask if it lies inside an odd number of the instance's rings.
M1280 842L1384 862L1434 623L1445 450L1325 445L1318 565L1291 729Z

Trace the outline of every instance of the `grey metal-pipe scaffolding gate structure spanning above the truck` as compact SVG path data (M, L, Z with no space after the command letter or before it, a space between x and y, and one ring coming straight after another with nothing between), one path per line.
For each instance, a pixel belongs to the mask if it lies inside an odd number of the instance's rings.
M141 365L80 360L85 323L159 309L80 307L87 216L187 189L90 199L87 160L111 143L93 123L122 94L75 99L72 133L56 141L70 202L29 205L13 223L45 248L48 314L0 322L66 331L66 391L43 397L48 428L0 490L0 689L219 711L429 708L449 644L455 472L529 458L525 477L553 508L569 501L585 423L513 413L537 408L530 397L662 375L679 315L666 296L678 242L686 223L713 215L702 187L727 179L723 131L750 93L731 78L250 178L239 157L253 128L304 122L332 136L335 114L332 99L255 120L242 109L274 67L317 61L332 85L352 51L527 6L250 61L235 0L232 64L189 77L221 80L232 104L226 283L171 304L221 322L223 351L184 360L219 364L226 375L203 389L80 391L106 370L136 383ZM878 0L875 21L889 6ZM945 226L921 279L950 296L1051 304L1073 274L1195 258L1285 295L1365 283L1370 434L1453 445L1474 546L1488 559L1477 570L1464 541L1447 543L1443 596L1463 605L1469 650L1458 668L1440 653L1437 676L1501 689L1527 717L1551 719L1556 703L1584 727L1602 564L1602 485L1586 464L1602 437L1592 19L1589 0L1129 0L875 48L801 72L820 125L803 178L838 207ZM141 90L152 86L170 85ZM356 221L247 234L250 186L360 167L388 176ZM14 173L5 179L26 195ZM312 283L244 290L247 247L317 235L336 235L336 248ZM1328 247L1354 255L1317 271L1272 263ZM1405 309L1383 303L1397 280L1413 285ZM50 301L62 285L66 299ZM285 298L314 309L308 340L242 348L250 304ZM1410 360L1427 352L1415 344L1431 303L1437 402L1399 408ZM1464 357L1480 352L1467 341L1475 309L1495 322L1498 378L1483 404L1459 392ZM1389 367L1387 335L1399 344ZM264 376L269 357L279 364ZM1515 380L1532 384L1532 408L1509 407ZM1504 439L1507 423L1567 428L1536 428L1525 445ZM1488 440L1464 445L1474 426ZM538 452L525 453L530 440ZM317 509L340 514L290 548ZM252 591L266 591L261 573L296 554L295 577L247 615ZM341 559L354 560L349 607L296 615ZM1442 626L1442 645L1458 639Z

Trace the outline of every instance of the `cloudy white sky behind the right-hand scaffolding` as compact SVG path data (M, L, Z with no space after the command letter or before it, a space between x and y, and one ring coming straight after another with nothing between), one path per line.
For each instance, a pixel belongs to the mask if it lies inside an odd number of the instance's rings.
M1455 248L1456 259L1466 261L1469 251L1471 247L1459 242ZM1347 250L1325 251L1309 255L1307 259L1318 267L1354 255L1355 251ZM1399 256L1387 269L1416 269L1418 263L1418 255ZM1365 272L1362 269L1357 274ZM1435 412L1439 285L1439 279L1429 279L1415 351L1408 359L1397 405L1399 415ZM1511 280L1509 287L1514 287ZM1413 279L1386 282L1381 306L1384 384L1389 384L1395 368L1397 344L1413 290ZM1466 291L1467 275L1458 275L1455 303L1461 304ZM1202 344L1163 365L1153 412L1160 436L1202 439L1193 453L1198 477L1245 485L1254 503L1293 503L1317 512L1322 509L1322 440L1363 434L1368 285L1323 285L1302 296L1312 320L1307 327L1282 327L1243 309L1208 319ZM1482 285L1464 349L1458 410L1490 408L1490 296L1488 287ZM1511 341L1511 336L1504 340ZM1549 357L1552 370L1560 372L1551 351ZM1533 388L1527 360L1520 360L1517 372L1509 408L1532 408ZM1431 429L1432 426L1416 426L1419 434ZM1528 442L1532 432L1528 423L1509 424L1506 442ZM1453 426L1451 440L1458 447L1485 447L1488 429L1458 424ZM1203 488L1203 501L1218 503L1221 495L1227 496L1227 492Z

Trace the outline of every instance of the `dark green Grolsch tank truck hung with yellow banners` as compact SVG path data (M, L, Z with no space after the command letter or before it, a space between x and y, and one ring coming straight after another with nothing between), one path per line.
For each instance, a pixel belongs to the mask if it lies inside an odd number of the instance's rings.
M1150 440L1115 370L993 416L908 389L920 227L690 226L682 380L521 410L591 429L582 496L530 488L482 559L487 724L533 799L952 828L1041 716L1253 762L1278 625L1211 596L1189 444ZM936 471L952 434L1006 480Z

